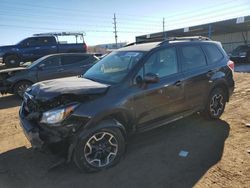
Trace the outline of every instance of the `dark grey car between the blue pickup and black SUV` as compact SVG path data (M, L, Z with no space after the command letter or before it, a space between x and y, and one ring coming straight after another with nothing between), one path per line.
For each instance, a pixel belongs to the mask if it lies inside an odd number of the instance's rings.
M91 54L62 53L44 56L27 67L0 70L0 92L22 97L36 82L83 74L97 60Z

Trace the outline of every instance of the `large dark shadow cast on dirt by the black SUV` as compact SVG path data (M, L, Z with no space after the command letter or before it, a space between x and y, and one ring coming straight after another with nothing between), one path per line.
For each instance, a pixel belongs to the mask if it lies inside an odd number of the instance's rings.
M24 147L0 154L1 187L193 187L220 161L229 125L198 115L134 135L121 162L99 173L73 164L48 171L52 156ZM187 157L178 154L188 151Z

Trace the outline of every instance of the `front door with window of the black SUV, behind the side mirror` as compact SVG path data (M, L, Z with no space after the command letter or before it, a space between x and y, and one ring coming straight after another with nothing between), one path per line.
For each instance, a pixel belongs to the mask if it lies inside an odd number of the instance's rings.
M136 80L140 80L140 77L143 80L148 73L159 77L158 83L135 86L134 109L138 127L185 110L182 74L177 59L174 47L157 50L150 55L136 75Z

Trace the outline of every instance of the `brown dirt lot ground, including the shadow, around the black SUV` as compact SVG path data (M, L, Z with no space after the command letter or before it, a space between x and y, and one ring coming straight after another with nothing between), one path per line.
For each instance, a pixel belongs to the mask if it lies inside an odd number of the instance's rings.
M193 115L135 135L120 164L94 174L73 164L48 170L53 156L33 151L19 127L20 101L0 97L0 187L250 187L250 74L235 80L221 120Z

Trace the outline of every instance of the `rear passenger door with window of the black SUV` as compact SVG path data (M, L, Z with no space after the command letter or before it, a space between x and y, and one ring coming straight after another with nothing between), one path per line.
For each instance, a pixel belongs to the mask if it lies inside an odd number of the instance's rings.
M199 45L179 47L180 64L184 75L185 101L189 109L204 105L209 88L209 75L205 54Z

